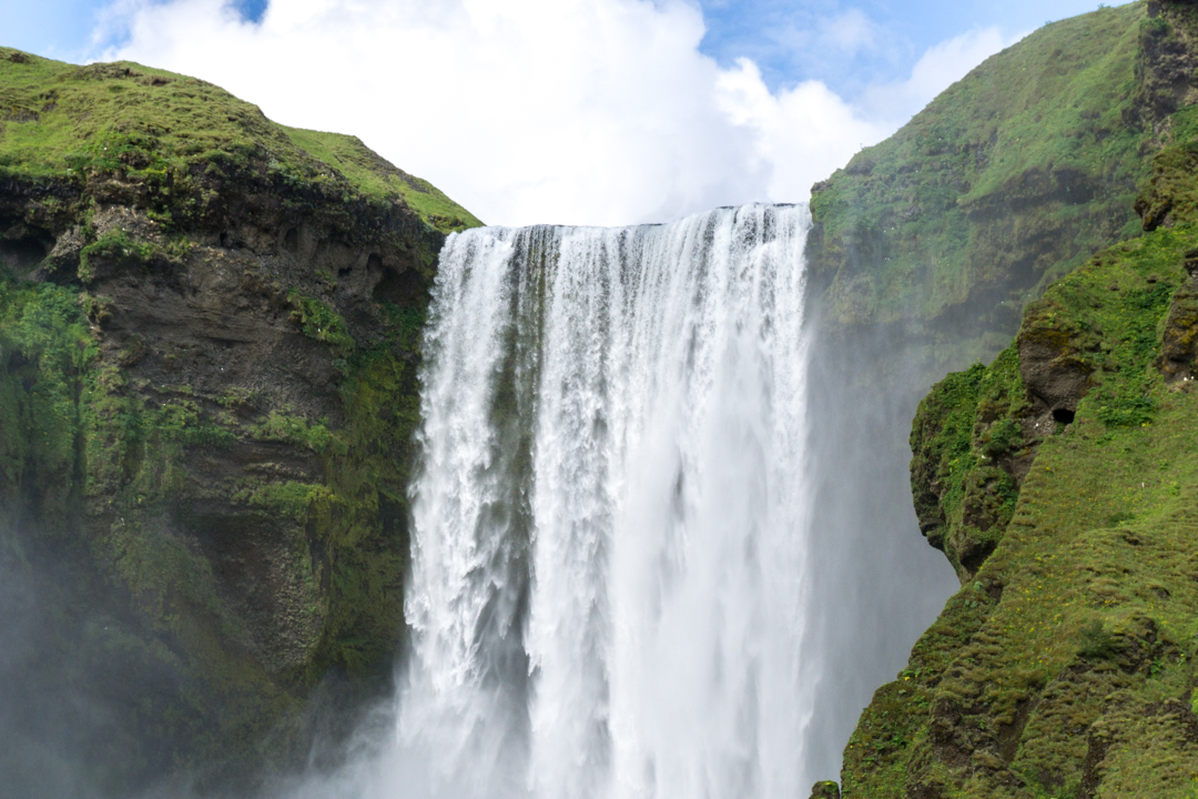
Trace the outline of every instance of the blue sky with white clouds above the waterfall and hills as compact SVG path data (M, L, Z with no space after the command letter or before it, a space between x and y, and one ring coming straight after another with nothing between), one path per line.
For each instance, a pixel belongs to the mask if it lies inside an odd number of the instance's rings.
M0 44L210 80L489 224L618 225L805 201L986 57L1099 5L0 0Z

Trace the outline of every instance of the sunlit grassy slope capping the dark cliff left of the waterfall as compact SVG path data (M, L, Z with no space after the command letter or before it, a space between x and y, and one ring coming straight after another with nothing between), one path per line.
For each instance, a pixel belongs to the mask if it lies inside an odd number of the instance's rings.
M135 180L186 192L192 167L252 158L326 194L407 205L444 232L482 224L357 138L286 128L202 80L128 62L77 67L0 48L0 174L83 180L89 170L123 168Z

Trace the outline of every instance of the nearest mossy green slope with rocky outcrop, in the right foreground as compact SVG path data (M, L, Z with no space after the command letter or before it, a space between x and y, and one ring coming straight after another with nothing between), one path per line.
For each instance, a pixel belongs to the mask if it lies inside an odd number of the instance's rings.
M846 797L1198 792L1198 393L1167 381L1162 359L1167 341L1198 333L1193 286L1179 290L1198 244L1196 111L1173 117L1137 202L1167 207L1172 226L1053 284L1016 344L924 400L912 435L921 519L938 510L944 540L985 538L993 553L956 563L961 592L866 708ZM1089 386L1072 424L1049 418L1033 435L1045 408L1021 352L1039 345ZM1031 455L1022 482L1000 468Z

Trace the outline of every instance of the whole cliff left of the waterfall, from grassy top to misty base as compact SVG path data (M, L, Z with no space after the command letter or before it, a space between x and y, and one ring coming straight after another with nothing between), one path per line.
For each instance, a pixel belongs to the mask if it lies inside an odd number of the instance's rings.
M246 787L386 690L419 332L478 224L204 81L0 48L10 787Z

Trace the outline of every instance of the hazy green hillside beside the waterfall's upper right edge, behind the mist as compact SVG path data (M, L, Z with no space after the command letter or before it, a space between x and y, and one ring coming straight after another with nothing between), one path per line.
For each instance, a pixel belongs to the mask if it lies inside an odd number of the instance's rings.
M829 321L904 325L939 364L992 356L1024 302L1132 230L1144 18L1140 2L1042 28L817 186Z

